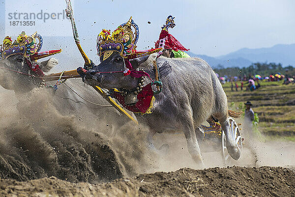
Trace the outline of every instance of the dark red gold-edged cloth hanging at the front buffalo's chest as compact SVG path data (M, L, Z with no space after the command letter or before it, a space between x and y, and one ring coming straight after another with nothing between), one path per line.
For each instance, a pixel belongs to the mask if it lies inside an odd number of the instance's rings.
M137 95L138 101L134 105L126 105L125 104L125 95L120 92L114 92L115 99L119 101L123 107L132 111L133 113L142 113L149 114L152 113L154 109L154 101L155 98L153 96L153 91L151 89L151 84L149 83L145 87L143 87L143 91Z

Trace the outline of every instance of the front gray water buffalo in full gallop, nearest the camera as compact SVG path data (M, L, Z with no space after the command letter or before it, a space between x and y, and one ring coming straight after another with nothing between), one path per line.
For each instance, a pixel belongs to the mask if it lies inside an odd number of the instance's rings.
M143 68L152 78L152 62L156 54L130 61L133 69ZM127 89L134 91L140 78L124 76L123 58L114 52L108 59L89 70L84 76L86 83L106 89ZM227 97L212 68L198 58L157 59L163 90L155 95L154 110L151 114L136 115L140 122L146 123L154 132L182 130L187 140L188 151L192 158L203 164L198 136L198 127L209 117L220 121L225 131L227 150L235 160L240 157L240 150L230 135ZM162 68L166 65L166 68ZM170 66L167 66L170 65Z

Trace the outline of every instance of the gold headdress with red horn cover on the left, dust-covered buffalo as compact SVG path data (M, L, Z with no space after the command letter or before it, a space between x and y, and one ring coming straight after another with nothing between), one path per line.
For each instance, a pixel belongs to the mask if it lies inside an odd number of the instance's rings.
M36 38L38 38L39 43L36 42ZM11 37L6 36L3 40L3 44L0 45L0 59L6 59L15 54L23 54L25 58L38 60L61 52L61 49L40 52L42 45L43 38L40 34L37 34L37 32L32 35L27 35L25 32L22 32L14 42L12 42Z

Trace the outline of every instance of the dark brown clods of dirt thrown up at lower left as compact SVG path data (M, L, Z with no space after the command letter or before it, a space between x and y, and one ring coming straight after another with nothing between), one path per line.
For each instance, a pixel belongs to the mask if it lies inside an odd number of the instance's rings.
M67 118L62 122L59 129L38 125L36 130L20 122L2 131L0 178L26 181L56 176L96 183L123 176L114 151L98 133L81 131Z

